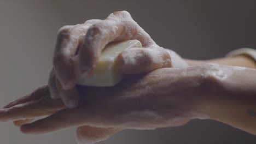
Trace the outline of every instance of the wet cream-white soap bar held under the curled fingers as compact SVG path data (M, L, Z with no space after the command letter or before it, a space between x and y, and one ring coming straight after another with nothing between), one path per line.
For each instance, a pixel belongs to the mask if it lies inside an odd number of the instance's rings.
M83 76L78 70L78 58L75 59L77 83L84 86L108 87L114 86L123 75L118 71L115 59L119 53L134 47L142 47L138 40L127 40L120 43L107 45L101 53L101 57L96 64L93 73Z

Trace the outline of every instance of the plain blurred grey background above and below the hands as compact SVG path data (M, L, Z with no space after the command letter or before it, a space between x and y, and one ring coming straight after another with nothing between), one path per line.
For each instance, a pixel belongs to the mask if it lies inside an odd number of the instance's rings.
M256 48L255 0L23 0L0 1L0 106L45 85L56 32L63 25L104 19L127 10L160 46L184 58L222 57L240 47ZM255 125L252 125L255 127ZM24 135L0 123L0 143L75 143L74 129ZM100 143L256 143L256 136L210 120L182 127L125 130Z

